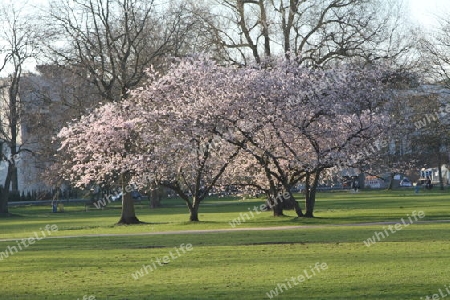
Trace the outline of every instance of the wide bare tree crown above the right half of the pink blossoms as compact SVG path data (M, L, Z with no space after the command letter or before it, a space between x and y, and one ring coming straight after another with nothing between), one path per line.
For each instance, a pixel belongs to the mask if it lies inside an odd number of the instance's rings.
M312 66L395 60L409 49L398 1L216 0L211 7L215 45L239 64L274 55Z

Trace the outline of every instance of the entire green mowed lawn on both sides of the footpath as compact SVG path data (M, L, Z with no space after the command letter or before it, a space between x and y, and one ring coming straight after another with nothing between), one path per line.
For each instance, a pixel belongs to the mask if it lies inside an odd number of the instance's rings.
M0 219L0 252L41 239L0 260L0 299L444 299L449 202L449 191L320 193L316 218L303 219L249 214L261 199L212 198L191 224L175 199L156 210L137 205L148 223L138 226L115 226L118 206L11 208L16 216ZM425 217L416 221L414 211ZM241 213L250 218L232 228ZM394 233L391 223L370 224L402 219L409 225ZM58 230L49 237L46 225ZM281 226L290 227L255 230ZM205 229L232 230L193 231ZM366 246L375 233L379 241Z

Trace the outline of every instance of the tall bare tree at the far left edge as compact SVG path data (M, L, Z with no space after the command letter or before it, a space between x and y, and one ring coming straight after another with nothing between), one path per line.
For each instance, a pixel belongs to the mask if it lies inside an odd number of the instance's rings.
M1 72L9 73L1 80L2 107L0 119L1 161L6 164L6 175L0 195L0 213L8 214L10 189L18 190L17 159L23 152L29 152L26 141L21 138L22 105L19 88L25 63L37 53L39 33L33 26L25 9L13 3L0 7L3 30L0 33L3 62Z

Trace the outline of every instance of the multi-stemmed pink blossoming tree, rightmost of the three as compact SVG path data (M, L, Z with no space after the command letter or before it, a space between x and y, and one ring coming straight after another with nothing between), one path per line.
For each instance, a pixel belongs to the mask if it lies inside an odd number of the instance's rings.
M258 70L248 92L253 97L245 98L246 111L223 114L224 123L246 137L240 146L250 157L241 157L232 168L241 173L241 184L265 191L275 216L282 215L283 208L294 208L298 216L313 217L324 170L382 131L381 79L377 70L323 71L289 62ZM239 126L242 116L254 124ZM305 214L290 192L299 182L305 184ZM281 194L285 196L280 199Z

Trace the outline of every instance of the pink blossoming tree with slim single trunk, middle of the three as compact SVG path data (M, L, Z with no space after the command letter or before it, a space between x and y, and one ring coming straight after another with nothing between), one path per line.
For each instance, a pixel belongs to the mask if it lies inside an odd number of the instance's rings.
M245 81L239 73L204 58L186 59L127 100L142 117L143 171L185 201L190 221L199 221L200 203L221 186L222 174L240 151L215 132L223 127L220 116L230 99L242 99Z

